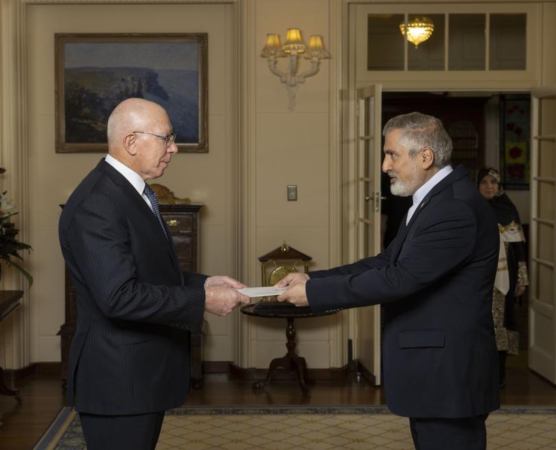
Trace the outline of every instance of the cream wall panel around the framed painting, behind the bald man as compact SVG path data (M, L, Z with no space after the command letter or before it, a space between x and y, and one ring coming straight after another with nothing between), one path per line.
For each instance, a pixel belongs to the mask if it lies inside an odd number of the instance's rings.
M237 276L237 106L233 5L29 5L27 98L31 360L59 361L64 322L64 263L58 246L59 204L102 154L54 152L54 33L208 32L209 153L177 154L157 180L178 197L205 206L200 215L200 271ZM235 358L236 318L207 314L205 359Z

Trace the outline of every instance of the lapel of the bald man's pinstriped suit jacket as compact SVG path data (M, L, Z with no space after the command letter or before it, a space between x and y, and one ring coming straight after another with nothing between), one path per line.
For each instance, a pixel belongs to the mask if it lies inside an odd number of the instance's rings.
M169 242L168 239L166 239L166 236L164 235L157 216L154 215L147 202L143 200L143 197L139 195L139 193L126 179L126 177L120 174L119 171L117 171L110 164L106 163L104 159L100 161L100 163L97 165L97 168L107 174L116 185L121 187L121 191L124 193L124 195L130 200L130 202L132 202L132 204L135 205L137 211L139 211L139 213L143 217L145 217L145 222L148 224L148 226L150 226L150 228L154 228L153 234L159 240L159 244L162 246L162 248L165 248L167 250L168 256L170 257L170 259L172 259L174 267L176 268L176 271L178 272L178 275L181 279L182 274L178 263L176 248L174 247L174 241ZM164 226L166 227L166 224L164 224ZM165 229L167 235L170 236L170 230L168 230L167 227Z

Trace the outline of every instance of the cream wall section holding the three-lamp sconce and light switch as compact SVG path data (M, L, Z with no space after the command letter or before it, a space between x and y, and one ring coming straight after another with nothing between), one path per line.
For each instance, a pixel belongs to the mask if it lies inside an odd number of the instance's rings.
M321 34L329 48L329 0L257 0L251 2L257 54L267 33L278 33L282 42L288 27L299 27L308 43L310 34ZM292 14L292 11L295 14ZM332 55L332 58L335 58ZM287 59L279 60L285 71ZM299 58L298 72L310 67ZM255 60L255 254L273 250L286 240L292 247L313 257L311 270L329 263L329 61L301 84L296 107L288 110L286 87L268 70L268 62ZM297 185L297 202L286 200L286 185ZM341 211L338 211L340 214ZM303 270L303 266L299 265ZM251 283L260 283L260 269L254 266ZM297 348L310 368L331 365L331 330L336 316L296 320ZM244 320L251 327L248 366L267 368L270 359L286 353L286 320Z

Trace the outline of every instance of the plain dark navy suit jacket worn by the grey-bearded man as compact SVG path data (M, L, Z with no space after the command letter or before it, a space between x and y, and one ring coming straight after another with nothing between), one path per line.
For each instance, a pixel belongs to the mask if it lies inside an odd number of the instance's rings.
M498 261L492 209L463 167L432 188L384 254L310 272L310 307L384 303L386 403L400 416L458 418L498 409L491 315Z

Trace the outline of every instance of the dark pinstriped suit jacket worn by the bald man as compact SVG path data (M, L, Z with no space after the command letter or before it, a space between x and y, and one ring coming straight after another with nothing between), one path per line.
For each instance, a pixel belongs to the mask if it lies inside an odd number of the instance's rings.
M78 304L69 405L75 395L79 412L112 415L183 404L206 276L181 272L157 218L104 159L71 194L59 237Z

